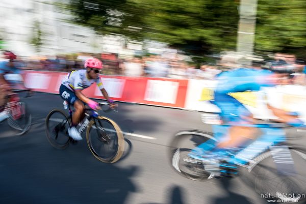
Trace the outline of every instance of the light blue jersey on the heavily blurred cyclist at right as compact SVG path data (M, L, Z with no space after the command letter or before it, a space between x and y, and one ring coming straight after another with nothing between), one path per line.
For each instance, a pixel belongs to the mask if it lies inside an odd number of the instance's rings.
M263 86L275 86L267 79L270 75L272 72L268 70L247 68L222 72L217 78L216 93L259 91Z

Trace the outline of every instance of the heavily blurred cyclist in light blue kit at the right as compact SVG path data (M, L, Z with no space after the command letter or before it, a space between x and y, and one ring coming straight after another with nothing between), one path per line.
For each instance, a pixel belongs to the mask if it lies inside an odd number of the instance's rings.
M292 74L292 67L272 67L270 70L240 68L219 74L214 103L221 110L220 118L222 123L230 126L227 135L223 135L226 140L221 140L212 145L211 150L204 150L199 145L189 156L193 159L206 160L204 155L208 152L217 153L227 148L235 149L247 140L254 139L257 128L252 124L255 124L255 119L241 102L229 94L259 91L265 86L291 84L293 82ZM278 122L292 126L303 125L303 122L297 118L296 114L272 107L270 104L266 105L277 118L281 119ZM209 157L209 155L207 156Z

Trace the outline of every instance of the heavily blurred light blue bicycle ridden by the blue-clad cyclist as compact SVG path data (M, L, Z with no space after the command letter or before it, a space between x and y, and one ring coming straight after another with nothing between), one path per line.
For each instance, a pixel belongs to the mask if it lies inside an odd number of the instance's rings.
M221 124L218 114L202 114L202 122L213 125L213 134L199 130L175 134L170 144L170 158L176 172L197 181L241 175L261 196L275 195L275 199L284 203L305 201L306 149L285 137L284 131L290 126L254 124L253 127L262 131L261 137L239 148L211 154L219 140L224 139L228 126L216 125ZM190 153L197 148L206 153L198 159L191 158Z

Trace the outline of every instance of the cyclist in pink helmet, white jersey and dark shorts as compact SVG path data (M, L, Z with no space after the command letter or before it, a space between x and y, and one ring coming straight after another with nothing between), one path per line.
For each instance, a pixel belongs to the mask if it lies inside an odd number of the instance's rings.
M72 71L62 81L60 86L60 96L67 101L70 105L73 105L75 111L72 115L72 128L69 128L69 136L74 140L81 140L81 134L75 128L85 116L84 103L89 107L96 110L99 108L98 103L86 97L82 91L88 88L94 82L99 87L104 98L108 100L111 108L114 108L116 104L109 98L108 93L104 89L102 82L99 79L99 73L103 68L102 62L96 58L89 58L85 61L85 69Z

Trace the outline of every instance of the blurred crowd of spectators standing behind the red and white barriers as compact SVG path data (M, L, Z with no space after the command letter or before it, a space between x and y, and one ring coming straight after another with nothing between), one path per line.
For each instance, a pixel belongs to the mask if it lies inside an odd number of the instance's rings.
M175 55L175 57L169 59L156 54L138 57L118 57L116 54L105 53L100 55L58 55L56 57L28 59L19 57L18 60L22 69L70 72L71 70L83 69L84 60L89 56L97 57L103 62L104 69L101 74L106 75L212 79L221 72L218 66L203 64L200 67L195 67L193 64L183 60L180 55ZM284 57L282 59L284 60Z

